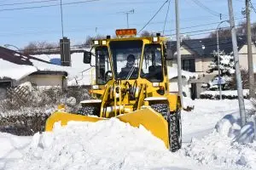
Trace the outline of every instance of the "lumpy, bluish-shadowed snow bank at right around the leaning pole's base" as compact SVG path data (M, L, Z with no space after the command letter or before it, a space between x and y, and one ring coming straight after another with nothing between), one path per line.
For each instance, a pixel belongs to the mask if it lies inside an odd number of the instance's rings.
M247 102L247 108L250 108L251 106ZM215 103L218 102L215 101ZM227 105L226 102L225 105L236 110L233 105ZM220 105L220 107L222 106ZM202 164L216 165L227 169L242 169L244 167L253 169L256 166L253 119L248 118L246 126L241 127L239 112L237 110L227 110L226 112L231 112L231 114L220 119L212 133L203 139L193 138L191 143L184 147L183 153Z

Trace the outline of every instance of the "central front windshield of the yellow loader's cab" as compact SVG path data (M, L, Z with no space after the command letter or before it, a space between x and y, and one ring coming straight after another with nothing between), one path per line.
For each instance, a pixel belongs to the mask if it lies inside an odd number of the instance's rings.
M137 79L143 51L143 41L110 42L113 71L116 79Z

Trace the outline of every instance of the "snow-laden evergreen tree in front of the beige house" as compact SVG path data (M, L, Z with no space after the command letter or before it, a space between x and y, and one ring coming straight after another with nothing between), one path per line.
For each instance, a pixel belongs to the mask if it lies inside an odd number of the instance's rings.
M213 71L218 71L218 53L216 51L212 52L214 59L209 65L207 73L212 73ZM219 52L219 69L220 69L220 80L218 75L213 77L212 81L207 84L203 84L202 88L207 88L208 90L218 90L218 84L221 84L223 89L230 89L230 82L232 80L232 75L235 73L235 63L234 57L232 55L224 54L224 51Z

